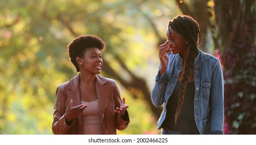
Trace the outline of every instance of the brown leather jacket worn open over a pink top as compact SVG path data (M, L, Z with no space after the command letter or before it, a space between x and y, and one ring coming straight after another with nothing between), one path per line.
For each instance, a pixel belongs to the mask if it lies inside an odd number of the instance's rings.
M57 88L52 123L54 134L82 134L82 113L73 120L70 126L66 124L64 118L66 107L71 99L73 99L73 106L80 105L79 76L80 74L70 81L60 84ZM116 82L113 79L97 75L96 90L104 134L116 135L116 129L124 130L130 122L127 110L124 120L114 111L122 103Z

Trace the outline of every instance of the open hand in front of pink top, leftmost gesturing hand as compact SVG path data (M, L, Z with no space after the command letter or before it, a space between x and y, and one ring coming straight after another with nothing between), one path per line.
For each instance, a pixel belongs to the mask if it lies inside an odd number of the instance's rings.
M66 122L71 122L74 118L76 118L79 114L81 114L84 109L88 106L88 104L81 104L75 107L72 107L73 105L73 100L70 100L70 104L68 108L66 108L65 112L65 119Z

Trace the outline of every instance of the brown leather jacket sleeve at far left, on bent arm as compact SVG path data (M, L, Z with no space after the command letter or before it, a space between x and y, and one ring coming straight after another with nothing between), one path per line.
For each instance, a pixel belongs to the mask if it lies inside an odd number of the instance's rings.
M55 111L53 113L53 123L51 127L53 134L66 134L70 127L73 125L74 121L70 126L66 124L64 117L66 111L65 103L66 98L64 95L64 91L61 89L60 86L58 86L56 90L56 100L54 107Z

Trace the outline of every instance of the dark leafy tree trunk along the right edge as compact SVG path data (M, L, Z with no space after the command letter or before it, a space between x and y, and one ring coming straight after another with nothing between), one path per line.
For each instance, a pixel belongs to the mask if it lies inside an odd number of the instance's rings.
M224 66L224 131L256 134L256 1L214 3Z

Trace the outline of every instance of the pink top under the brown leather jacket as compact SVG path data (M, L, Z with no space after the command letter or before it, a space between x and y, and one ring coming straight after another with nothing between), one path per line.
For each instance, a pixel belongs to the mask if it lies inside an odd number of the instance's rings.
M83 134L84 135L102 135L102 121L98 99L91 102L81 100L81 104L88 104L88 107L82 112L83 117Z

